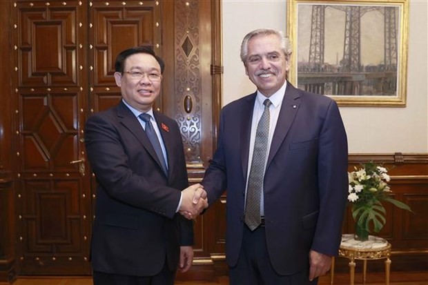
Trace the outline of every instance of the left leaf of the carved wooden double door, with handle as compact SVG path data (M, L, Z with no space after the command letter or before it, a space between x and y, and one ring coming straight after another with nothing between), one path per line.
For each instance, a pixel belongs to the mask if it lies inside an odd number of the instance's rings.
M90 273L90 186L81 129L86 7L14 3L17 259L23 275Z

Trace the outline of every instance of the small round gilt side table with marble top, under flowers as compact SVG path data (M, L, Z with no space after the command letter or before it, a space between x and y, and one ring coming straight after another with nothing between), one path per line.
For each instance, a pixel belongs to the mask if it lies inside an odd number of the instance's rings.
M389 271L391 268L391 244L386 239L369 235L369 240L361 242L354 239L353 234L342 235L340 242L339 257L347 257L349 259L349 274L350 283L354 285L356 259L364 261L362 268L362 280L366 284L367 260L370 259L386 259L385 260L385 281L389 285ZM334 278L334 259L331 264L331 284Z

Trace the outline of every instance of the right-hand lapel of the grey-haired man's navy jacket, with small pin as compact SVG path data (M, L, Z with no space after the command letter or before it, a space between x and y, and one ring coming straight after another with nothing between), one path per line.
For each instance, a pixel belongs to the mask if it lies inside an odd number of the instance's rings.
M271 150L269 150L269 157L266 163L266 169L273 157L275 157L278 149L284 141L287 132L289 132L291 124L295 119L295 115L298 113L300 108L300 95L294 86L287 81L284 99L282 100L282 106L280 115L276 123L275 132L273 132L273 138L271 142Z

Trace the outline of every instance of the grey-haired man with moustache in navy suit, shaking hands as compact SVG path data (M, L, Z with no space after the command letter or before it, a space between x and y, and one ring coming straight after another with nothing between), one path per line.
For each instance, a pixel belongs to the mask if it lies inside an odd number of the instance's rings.
M222 109L202 185L227 189L232 285L316 284L338 253L347 199L347 136L335 101L286 81L291 47L275 30L241 46L251 95Z

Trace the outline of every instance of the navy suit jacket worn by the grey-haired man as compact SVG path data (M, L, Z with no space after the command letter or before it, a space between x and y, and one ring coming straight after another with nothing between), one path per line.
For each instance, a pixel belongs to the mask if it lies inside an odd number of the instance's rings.
M209 204L227 189L229 266L237 263L242 244L255 97L253 93L222 109L217 150L202 181ZM287 82L264 175L266 243L277 273L306 269L310 249L337 255L348 190L347 155L335 101Z

